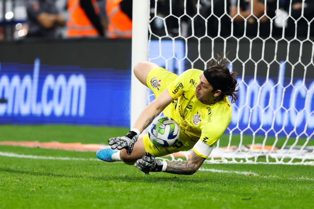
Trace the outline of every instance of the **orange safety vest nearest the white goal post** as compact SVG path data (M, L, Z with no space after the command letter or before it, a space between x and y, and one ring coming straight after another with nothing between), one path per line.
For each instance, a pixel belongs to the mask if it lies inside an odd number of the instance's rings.
M109 38L132 38L132 20L120 8L122 0L107 0Z

